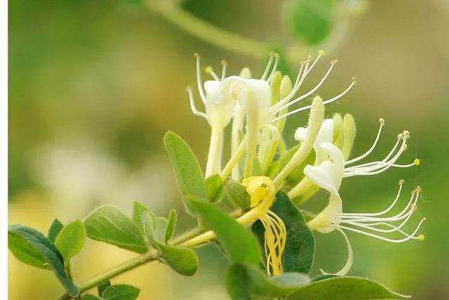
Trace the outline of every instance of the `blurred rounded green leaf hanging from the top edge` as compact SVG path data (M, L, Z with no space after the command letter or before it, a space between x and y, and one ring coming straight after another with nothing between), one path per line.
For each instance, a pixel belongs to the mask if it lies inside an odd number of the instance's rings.
M326 39L332 30L333 0L292 0L286 6L290 30L307 44Z

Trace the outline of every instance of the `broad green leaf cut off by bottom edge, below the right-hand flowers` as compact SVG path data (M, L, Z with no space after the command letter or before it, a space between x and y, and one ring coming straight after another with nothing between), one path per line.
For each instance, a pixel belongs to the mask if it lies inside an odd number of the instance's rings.
M391 292L378 282L358 277L337 277L312 282L287 297L288 300L300 299L398 299L401 294Z

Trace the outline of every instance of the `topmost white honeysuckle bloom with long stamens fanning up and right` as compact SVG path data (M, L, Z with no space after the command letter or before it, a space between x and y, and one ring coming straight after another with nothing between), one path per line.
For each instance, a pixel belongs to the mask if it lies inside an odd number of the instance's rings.
M233 178L238 179L236 177L240 174L238 168L235 166L239 162L239 157L244 152L247 152L247 156L249 155L246 159L245 175L250 175L251 171L249 169L252 167L254 157L253 153L248 153L248 150L256 152L257 145L261 147L272 145L280 136L279 128L282 128L282 126L276 126L279 125L279 120L286 119L290 115L311 108L311 105L303 105L288 112L288 108L291 105L300 103L301 100L315 93L324 84L328 75L333 70L337 60L333 60L330 63L328 71L316 86L297 96L304 80L322 56L324 56L324 52L319 51L319 55L313 61L309 57L306 61L300 63L300 70L295 79L295 83L290 87L290 91L283 95L283 98L280 98L276 103L272 101L273 95L270 89L270 84L272 84L273 79L276 77L276 68L279 62L279 55L276 53L270 56L267 67L260 79L251 79L251 74L248 69L244 69L244 72L242 70L240 76L226 77L226 64L223 65L221 77L218 77L211 67L206 68L206 72L213 77L212 81L206 81L204 84L206 91L203 90L203 83L201 81L200 58L196 56L197 86L201 100L206 107L206 112L200 112L196 109L192 89L188 89L190 104L194 115L199 115L208 120L212 130L210 150L216 153L216 155L209 153L206 176L217 174L221 171L222 129L229 123L231 117L234 117L234 121L232 122L232 156L236 156L236 159L230 159L233 165L229 166L226 172L225 170L222 171L222 177L227 177L232 171ZM344 89L342 93L333 98L324 100L323 104L331 103L342 98L355 83L356 79L354 78L347 89ZM255 99L252 103L253 107L248 107L248 95L251 95ZM246 126L244 125L245 123ZM246 139L239 138L241 136L241 132L239 131L245 131L243 133L245 133ZM268 148L261 149L263 150L259 151L259 158L265 159ZM268 155L268 157L272 158L272 154ZM264 166L268 163L262 162Z

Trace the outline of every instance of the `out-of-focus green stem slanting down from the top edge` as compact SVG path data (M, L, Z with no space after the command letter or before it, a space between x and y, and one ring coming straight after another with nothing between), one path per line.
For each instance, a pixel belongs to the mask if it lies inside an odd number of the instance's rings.
M182 30L189 32L189 34L227 50L262 58L268 49L268 46L260 41L227 32L196 18L170 1L149 0L147 1L147 7Z

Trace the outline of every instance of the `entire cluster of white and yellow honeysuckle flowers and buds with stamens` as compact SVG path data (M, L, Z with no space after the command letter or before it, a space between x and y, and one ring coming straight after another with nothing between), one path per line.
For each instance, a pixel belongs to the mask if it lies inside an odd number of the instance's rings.
M201 58L196 54L197 88L203 112L196 108L194 89L187 88L192 112L205 118L210 125L206 178L219 175L222 181L237 181L246 189L250 195L250 207L241 211L238 220L247 226L261 221L265 230L267 272L272 275L283 272L283 249L287 239L283 221L270 210L280 190L286 192L297 206L320 188L330 194L328 205L322 211L302 213L309 218L307 226L310 230L319 233L337 230L347 242L347 263L336 275L346 274L352 263L351 244L344 231L387 242L424 240L424 235L417 234L424 219L411 234L402 229L417 208L420 187L413 190L401 212L387 216L400 198L403 181L400 181L398 194L387 209L375 213L344 212L340 196L343 178L380 174L391 167L412 167L419 165L420 160L398 164L410 137L408 131L403 131L382 160L360 163L375 150L384 119L379 120L380 128L373 145L362 155L350 158L356 136L354 118L349 114L344 117L335 114L331 119L325 119L324 107L344 97L356 84L356 79L353 78L346 88L331 98L323 100L318 96L320 87L335 68L337 60L333 60L318 83L303 91L304 81L324 55L319 51L316 58L310 56L301 62L294 81L276 70L279 55L272 53L260 79L253 78L248 68L243 68L239 75L228 76L227 62L222 60L220 76L208 66L206 73L211 79L203 82ZM313 99L311 103L307 103L309 98ZM287 150L282 134L286 118L304 110L310 111L307 126L299 127L291 134L298 144ZM225 143L224 131L229 124L232 128L228 144ZM225 146L230 152L226 163L223 162ZM401 237L389 237L391 233Z

